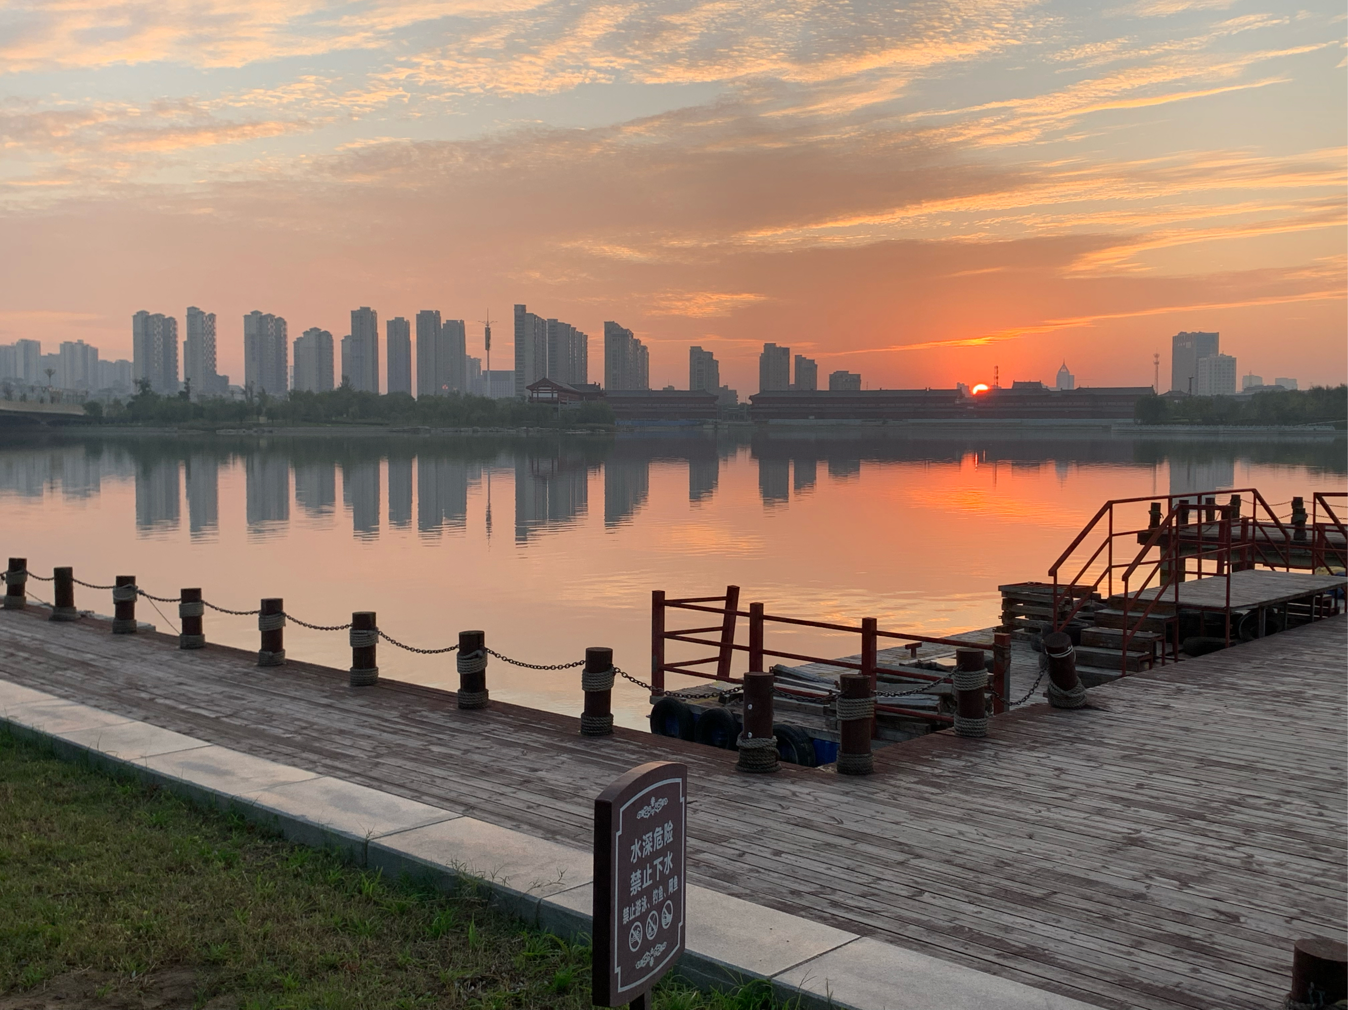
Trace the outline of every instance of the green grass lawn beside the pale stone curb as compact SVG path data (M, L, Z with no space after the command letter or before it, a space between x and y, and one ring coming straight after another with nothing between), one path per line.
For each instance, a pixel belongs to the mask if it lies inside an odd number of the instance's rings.
M0 1009L589 1007L585 945L0 731ZM766 1010L662 983L656 1010Z

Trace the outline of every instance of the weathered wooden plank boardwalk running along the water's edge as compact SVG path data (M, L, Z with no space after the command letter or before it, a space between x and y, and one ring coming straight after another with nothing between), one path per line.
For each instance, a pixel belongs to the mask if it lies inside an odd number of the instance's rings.
M1097 1006L1267 1010L1294 939L1343 937L1348 618L1085 710L1027 706L983 741L890 746L852 780L44 613L0 614L0 677L578 847L601 786L686 761L696 882Z

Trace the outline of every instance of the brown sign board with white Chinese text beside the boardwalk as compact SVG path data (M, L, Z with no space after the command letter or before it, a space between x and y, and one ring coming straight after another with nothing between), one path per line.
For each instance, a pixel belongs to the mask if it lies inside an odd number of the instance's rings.
M639 765L594 800L596 1006L639 1001L683 952L687 765Z

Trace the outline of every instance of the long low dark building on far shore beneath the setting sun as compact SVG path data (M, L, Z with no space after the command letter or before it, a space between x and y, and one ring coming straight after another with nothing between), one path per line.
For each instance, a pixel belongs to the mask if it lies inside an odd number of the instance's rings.
M1131 420L1139 397L1151 386L1082 389L989 389L971 396L961 389L774 391L749 397L754 420Z

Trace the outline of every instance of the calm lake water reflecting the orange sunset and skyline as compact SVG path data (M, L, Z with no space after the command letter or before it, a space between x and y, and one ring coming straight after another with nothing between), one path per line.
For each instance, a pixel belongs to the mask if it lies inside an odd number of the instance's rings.
M563 663L611 645L646 679L650 594L743 587L770 613L931 634L998 622L998 586L1042 579L1107 498L1259 487L1270 502L1343 490L1341 440L874 434L524 438L115 438L0 442L5 553L133 574L173 597L311 622L376 610L421 646L481 628L493 648ZM44 587L30 583L43 599ZM77 605L111 613L109 594ZM177 626L142 601L142 619ZM690 615L687 624L702 624ZM708 619L706 624L712 624ZM257 648L253 618L208 611L208 637ZM770 645L826 656L856 638ZM286 630L295 659L345 668L345 634ZM693 649L708 654L709 650ZM380 645L384 676L457 685L453 659ZM578 675L492 661L496 698L578 712ZM673 679L671 679L673 683ZM644 725L620 681L619 722Z

